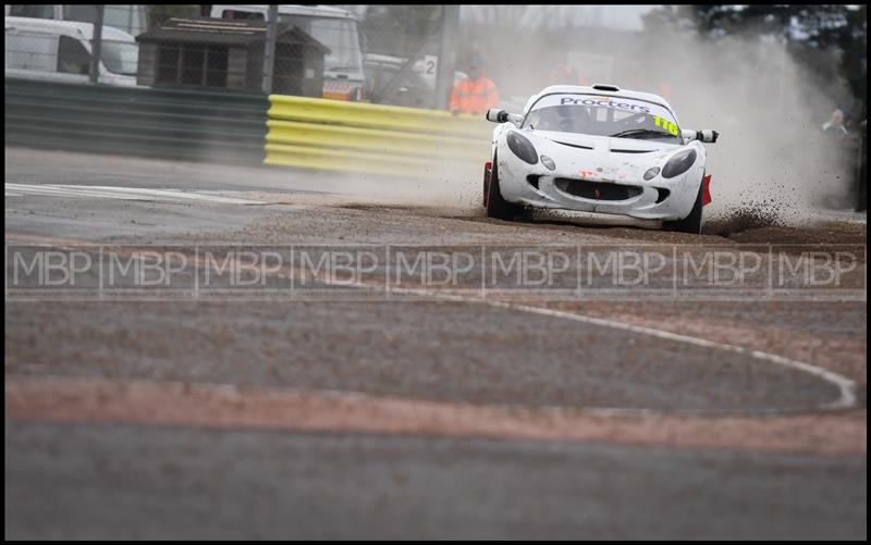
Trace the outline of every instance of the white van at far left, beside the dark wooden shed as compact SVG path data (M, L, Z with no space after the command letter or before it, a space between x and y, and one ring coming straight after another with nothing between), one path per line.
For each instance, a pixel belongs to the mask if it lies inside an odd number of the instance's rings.
M94 25L33 17L4 17L5 77L86 83ZM127 33L102 27L98 82L136 86L139 49Z

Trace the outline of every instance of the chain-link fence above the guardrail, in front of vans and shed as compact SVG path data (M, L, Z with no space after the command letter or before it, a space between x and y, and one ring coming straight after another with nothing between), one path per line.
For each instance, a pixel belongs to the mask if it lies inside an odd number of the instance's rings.
M7 5L7 75L437 108L450 8Z

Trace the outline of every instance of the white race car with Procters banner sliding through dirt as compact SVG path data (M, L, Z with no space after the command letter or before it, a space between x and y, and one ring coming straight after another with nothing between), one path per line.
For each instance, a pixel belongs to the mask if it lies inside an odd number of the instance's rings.
M711 201L701 143L715 131L680 129L668 102L613 85L554 85L532 96L523 115L491 109L492 161L483 203L491 218L524 208L661 220L663 228L701 232Z

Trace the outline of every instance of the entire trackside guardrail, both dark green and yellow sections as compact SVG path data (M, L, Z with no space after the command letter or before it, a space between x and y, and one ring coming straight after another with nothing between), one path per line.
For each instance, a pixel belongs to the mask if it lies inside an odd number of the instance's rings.
M480 171L483 117L340 100L5 78L7 145L445 178Z

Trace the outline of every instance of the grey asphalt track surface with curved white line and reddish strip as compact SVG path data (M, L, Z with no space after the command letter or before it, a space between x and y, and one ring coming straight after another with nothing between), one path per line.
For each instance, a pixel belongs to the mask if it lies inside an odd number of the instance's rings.
M506 223L474 190L15 148L5 185L8 247L866 244ZM5 536L867 537L861 298L321 281L324 300L8 297Z

